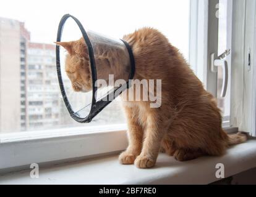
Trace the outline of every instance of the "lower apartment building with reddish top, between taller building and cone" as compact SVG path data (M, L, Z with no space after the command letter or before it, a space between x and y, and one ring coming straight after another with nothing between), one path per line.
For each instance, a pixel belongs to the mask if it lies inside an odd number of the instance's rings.
M27 129L59 124L61 97L56 77L55 46L28 44Z

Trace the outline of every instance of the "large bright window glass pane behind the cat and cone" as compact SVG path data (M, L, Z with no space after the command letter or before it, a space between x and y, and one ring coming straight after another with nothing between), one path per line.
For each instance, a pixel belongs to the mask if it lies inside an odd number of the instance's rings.
M157 28L187 58L189 3L1 1L0 134L126 122L119 98L90 124L75 123L70 118L59 90L53 44L62 15L72 14L85 29L113 38L122 38L143 26Z

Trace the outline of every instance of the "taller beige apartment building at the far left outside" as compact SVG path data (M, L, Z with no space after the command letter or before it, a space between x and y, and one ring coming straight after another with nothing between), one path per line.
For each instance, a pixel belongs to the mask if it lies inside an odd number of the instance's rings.
M26 53L24 23L0 18L0 132L25 129Z

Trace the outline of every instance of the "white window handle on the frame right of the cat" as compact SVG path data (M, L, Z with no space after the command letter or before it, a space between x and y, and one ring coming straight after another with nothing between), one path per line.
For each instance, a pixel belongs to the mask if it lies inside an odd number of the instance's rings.
M223 69L223 82L222 82L222 89L221 89L221 97L226 96L227 87L228 87L228 62L224 60L230 54L230 49L225 50L223 54L217 57L216 54L211 54L211 72L217 73L218 66L221 66Z

